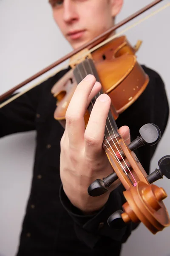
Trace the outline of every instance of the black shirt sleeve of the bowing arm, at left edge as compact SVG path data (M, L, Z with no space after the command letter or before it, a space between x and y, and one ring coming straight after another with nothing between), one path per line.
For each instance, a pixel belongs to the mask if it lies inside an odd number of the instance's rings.
M47 91L51 93L51 87L64 73L65 70L60 71L55 76L52 76L1 108L0 137L18 132L35 130L37 108L42 96L46 95Z

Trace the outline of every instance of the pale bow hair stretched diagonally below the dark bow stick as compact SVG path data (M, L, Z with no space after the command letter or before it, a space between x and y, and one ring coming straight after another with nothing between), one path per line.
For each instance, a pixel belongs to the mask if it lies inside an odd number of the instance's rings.
M127 32L128 30L132 29L133 27L137 26L138 24L144 22L144 20L149 19L150 17L153 17L154 15L158 14L159 12L163 11L164 9L166 9L167 7L170 6L170 3L165 4L164 6L162 6L161 8L159 8L158 10L156 10L155 12L152 12L150 15L147 15L146 17L144 17L143 19L139 20L138 22L134 23L133 25L127 27L126 29L124 29L122 32L119 32L118 34L113 35L112 37L106 39L105 41L103 41L102 43L96 45L95 47L93 47L92 49L90 49L88 52L86 52L85 54L82 54L80 57L78 57L76 60L72 61L69 63L69 65L74 64L75 61L78 61L79 58L83 58L85 57L88 53L91 53L92 51L98 49L99 47L103 46L104 44L107 44L109 41L113 40L114 38L118 37L119 35L122 35L123 33ZM45 80L51 78L52 76L55 76L57 73L59 73L61 70L64 70L66 68L68 68L69 66L68 64L62 66L61 68L59 68L58 70L55 70L53 73L51 73L49 76L46 76L45 78L39 80L37 83L31 85L30 87L28 87L26 90L23 90L20 93L17 93L16 95L14 95L13 97L11 97L10 99L6 100L5 102L0 104L0 108L3 108L5 105L9 104L10 102L12 102L13 100L17 99L18 97L22 96L24 93L28 92L29 90L33 89L34 87L38 86L39 84L41 84L42 82L44 82Z

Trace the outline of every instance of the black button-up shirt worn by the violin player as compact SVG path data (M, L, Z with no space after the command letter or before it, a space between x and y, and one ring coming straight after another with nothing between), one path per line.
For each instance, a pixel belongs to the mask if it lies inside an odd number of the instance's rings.
M153 70L142 66L150 77L144 93L116 120L118 128L130 127L131 140L139 128L152 122L161 133L167 125L168 102L164 83ZM63 128L54 119L56 99L51 88L68 70L62 70L14 102L0 109L0 137L24 131L37 131L31 194L28 200L17 256L118 256L121 244L137 226L127 224L117 230L107 224L108 217L125 203L123 186L96 215L84 216L66 197L59 176L60 139ZM135 151L145 171L157 145ZM152 170L153 171L153 170ZM96 198L96 200L99 200Z

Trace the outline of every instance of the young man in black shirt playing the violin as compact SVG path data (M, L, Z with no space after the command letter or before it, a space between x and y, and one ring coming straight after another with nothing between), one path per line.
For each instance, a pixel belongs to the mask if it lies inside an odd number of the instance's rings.
M113 26L123 4L122 0L49 2L54 20L74 49ZM117 120L118 127L127 125L120 129L127 143L130 134L131 139L135 139L145 123L155 123L162 134L167 124L164 84L155 71L143 68L150 83ZM123 188L119 186L100 198L92 198L87 193L92 181L112 172L102 151L110 98L101 95L97 99L85 130L85 109L101 86L94 76L87 76L71 99L64 131L54 119L56 101L51 88L67 71L62 70L0 110L1 137L21 131L37 131L31 194L17 256L100 256L110 255L110 250L118 256L121 244L136 227L127 224L111 229L107 224L108 217L125 202ZM155 149L156 146L145 146L136 151L147 173Z

